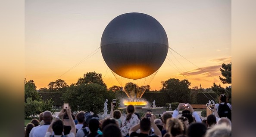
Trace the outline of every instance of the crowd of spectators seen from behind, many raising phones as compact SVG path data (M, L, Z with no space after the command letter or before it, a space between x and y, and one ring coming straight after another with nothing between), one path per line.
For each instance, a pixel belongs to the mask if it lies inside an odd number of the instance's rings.
M97 114L80 111L72 114L71 108L62 108L53 118L50 111L32 119L26 126L25 137L231 137L231 119L218 110L227 104L226 95L220 96L219 105L212 106L213 114L202 120L193 107L180 103L173 113L156 116L139 116L133 105L126 107L125 119L111 103L110 116L99 119ZM231 105L228 104L231 110ZM179 111L182 115L178 117ZM219 111L219 112L218 112ZM219 113L221 116L219 116Z

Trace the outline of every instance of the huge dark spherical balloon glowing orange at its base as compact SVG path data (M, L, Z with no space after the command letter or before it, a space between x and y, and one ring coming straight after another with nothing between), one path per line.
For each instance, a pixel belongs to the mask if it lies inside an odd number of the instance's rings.
M162 25L150 15L126 13L106 26L100 49L112 71L125 78L140 79L162 66L168 38Z

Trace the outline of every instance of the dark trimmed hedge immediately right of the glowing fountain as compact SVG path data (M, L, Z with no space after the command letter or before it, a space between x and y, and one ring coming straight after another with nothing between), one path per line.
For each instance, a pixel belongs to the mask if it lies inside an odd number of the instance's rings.
M157 107L165 107L165 103L170 102L169 95L162 92L145 92L141 98L145 98L151 103L155 100Z

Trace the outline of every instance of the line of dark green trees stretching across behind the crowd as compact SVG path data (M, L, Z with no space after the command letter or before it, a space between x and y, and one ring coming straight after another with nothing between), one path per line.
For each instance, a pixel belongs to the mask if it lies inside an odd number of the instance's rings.
M220 71L223 76L219 77L222 83L231 84L231 63L222 64L222 68L220 68ZM150 90L149 85L141 86L141 88L144 88L146 90L145 95L150 95L147 94L147 92L165 93L165 95L167 95L167 99L164 99L162 101L166 100L169 102L187 102L190 104L197 104L198 93L205 92L207 93L204 94L206 96L209 96L208 93L215 93L215 101L218 100L217 97L220 94L226 94L228 96L229 102L231 103L231 88L223 88L220 84L216 85L215 83L213 83L213 86L208 89L203 89L201 86L199 88L195 86L190 89L190 82L188 80L179 80L176 78L170 78L169 80L161 81L161 84L162 88L159 91ZM83 75L83 77L79 78L76 83L68 85L65 80L58 79L50 82L48 84L48 88L41 88L38 91L33 80L27 81L25 79L25 116L34 117L45 110L50 110L54 113L54 111L52 110L54 104L52 99L42 99L42 96L40 95L40 93L50 92L61 94L59 100L63 102L68 102L69 105L72 107L73 111L83 110L93 111L94 113L103 112L104 106L102 104L104 104L106 99L111 101L115 98L126 97L120 86L114 85L110 88L107 88L106 83L104 83L102 79L102 74L98 74L95 71L87 72ZM143 95L142 98L145 98L145 95ZM214 100L213 98L211 99ZM159 99L159 101L160 100L161 99ZM162 102L161 104L164 103ZM110 108L110 103L108 103L108 105Z

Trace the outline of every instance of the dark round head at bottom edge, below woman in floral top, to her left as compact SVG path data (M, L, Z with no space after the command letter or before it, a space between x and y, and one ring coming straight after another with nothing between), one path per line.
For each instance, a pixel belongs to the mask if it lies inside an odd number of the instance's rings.
M108 124L103 130L103 137L122 137L122 134L116 124Z

